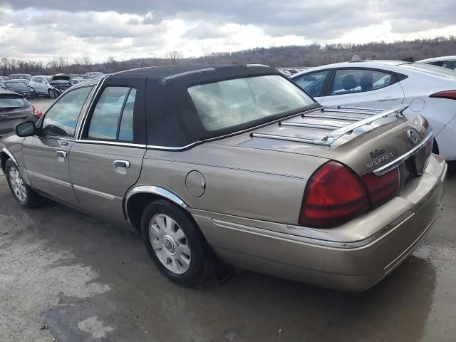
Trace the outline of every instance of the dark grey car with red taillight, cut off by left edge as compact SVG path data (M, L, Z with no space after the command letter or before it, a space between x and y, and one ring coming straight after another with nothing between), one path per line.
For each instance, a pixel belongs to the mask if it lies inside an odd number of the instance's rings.
M41 115L41 111L36 110L22 95L0 89L0 135L13 132L14 126L23 121L36 123Z

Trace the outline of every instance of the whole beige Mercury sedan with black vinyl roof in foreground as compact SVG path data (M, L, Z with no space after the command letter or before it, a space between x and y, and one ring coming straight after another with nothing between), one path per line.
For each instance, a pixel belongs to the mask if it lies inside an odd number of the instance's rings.
M23 207L50 197L138 230L177 284L231 265L361 291L442 205L447 165L405 108L323 108L266 66L141 68L17 125L1 167Z

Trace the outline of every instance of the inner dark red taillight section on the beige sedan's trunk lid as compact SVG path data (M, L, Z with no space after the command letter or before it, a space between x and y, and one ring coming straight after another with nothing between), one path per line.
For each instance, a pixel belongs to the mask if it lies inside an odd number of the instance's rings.
M372 207L379 207L398 195L399 169L396 167L381 176L377 176L373 172L368 173L363 175L363 182L371 198Z

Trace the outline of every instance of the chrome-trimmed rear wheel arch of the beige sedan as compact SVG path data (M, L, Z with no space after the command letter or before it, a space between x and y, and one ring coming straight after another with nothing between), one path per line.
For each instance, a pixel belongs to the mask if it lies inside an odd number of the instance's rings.
M142 212L144 212L144 209L148 204L157 199L167 199L170 202L177 204L186 214L192 217L188 211L190 207L183 199L175 195L175 193L155 185L140 185L138 187L133 187L133 189L128 191L124 201L125 217L138 232L141 232Z

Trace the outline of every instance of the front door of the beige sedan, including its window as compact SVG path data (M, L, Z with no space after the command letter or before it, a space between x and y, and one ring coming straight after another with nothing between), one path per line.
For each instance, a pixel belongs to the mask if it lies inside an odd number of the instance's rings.
M70 91L46 112L41 134L24 140L24 162L31 185L59 202L78 202L69 170L76 123L92 86Z

